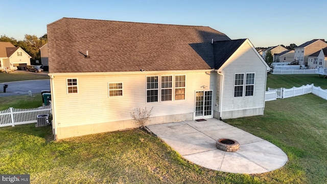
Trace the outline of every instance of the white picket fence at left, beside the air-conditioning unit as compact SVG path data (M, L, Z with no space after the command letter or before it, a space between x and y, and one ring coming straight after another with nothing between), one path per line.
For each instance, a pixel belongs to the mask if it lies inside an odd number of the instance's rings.
M52 114L51 105L30 109L10 107L0 111L0 127L37 123L37 116L41 114Z

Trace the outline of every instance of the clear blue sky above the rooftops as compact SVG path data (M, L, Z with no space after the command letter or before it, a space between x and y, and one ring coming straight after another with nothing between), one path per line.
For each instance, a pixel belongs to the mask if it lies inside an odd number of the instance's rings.
M62 17L208 26L254 47L327 39L326 0L1 0L0 35L38 37Z

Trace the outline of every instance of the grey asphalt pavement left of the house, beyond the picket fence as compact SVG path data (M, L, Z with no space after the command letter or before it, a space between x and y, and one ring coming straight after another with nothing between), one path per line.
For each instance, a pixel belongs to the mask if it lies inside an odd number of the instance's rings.
M3 93L4 84L8 85L6 93ZM50 79L0 83L0 97L27 95L29 91L41 94L42 90L50 90Z

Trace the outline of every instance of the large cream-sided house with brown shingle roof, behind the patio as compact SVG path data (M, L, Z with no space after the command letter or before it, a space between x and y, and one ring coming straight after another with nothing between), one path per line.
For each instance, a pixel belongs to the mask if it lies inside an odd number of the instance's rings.
M62 18L47 26L56 140L149 124L261 115L269 66L209 27ZM201 123L201 122L199 122Z

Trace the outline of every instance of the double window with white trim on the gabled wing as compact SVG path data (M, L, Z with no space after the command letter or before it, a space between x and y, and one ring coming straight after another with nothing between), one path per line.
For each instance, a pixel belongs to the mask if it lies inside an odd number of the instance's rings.
M245 89L245 90L244 90ZM234 80L234 97L248 97L254 95L254 73L235 74Z

